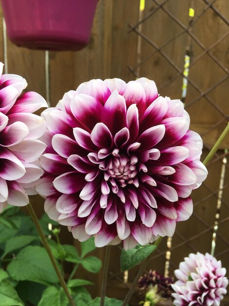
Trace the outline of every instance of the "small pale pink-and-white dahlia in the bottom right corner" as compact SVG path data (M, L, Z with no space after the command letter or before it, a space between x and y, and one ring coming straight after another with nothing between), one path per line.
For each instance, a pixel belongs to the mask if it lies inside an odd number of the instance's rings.
M190 254L174 274L178 279L172 285L176 306L219 306L227 293L226 269L208 253Z

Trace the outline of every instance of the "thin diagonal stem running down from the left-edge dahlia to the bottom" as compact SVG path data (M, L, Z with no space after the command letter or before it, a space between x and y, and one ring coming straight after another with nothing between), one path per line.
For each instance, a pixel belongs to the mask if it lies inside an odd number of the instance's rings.
M42 228L41 228L41 226L39 224L39 221L38 221L37 215L36 215L36 213L35 213L35 211L33 209L33 206L31 205L31 203L29 203L26 207L27 207L27 210L28 210L28 212L30 214L31 219L33 220L34 224L37 227L38 234L40 236L42 244L43 244L43 246L45 247L45 249L46 249L46 251L48 253L48 256L49 256L49 258L50 258L50 260L51 260L51 262L53 264L53 267L54 267L54 269L55 269L55 271L57 273L59 282L60 282L62 288L64 289L64 292L65 292L65 294L66 294L66 296L67 296L67 298L68 298L68 300L70 302L70 305L71 306L76 306L74 301L73 301L73 298L72 298L71 294L68 291L68 288L67 288L67 285L66 285L66 283L65 283L65 281L63 279L63 276L61 275L61 272L60 272L60 270L59 270L59 268L57 266L57 262L55 261L55 259L53 257L52 251L51 251L50 246L48 244L48 241L47 241L47 239L46 239L46 237L45 237L45 235L43 233L43 230L42 230Z

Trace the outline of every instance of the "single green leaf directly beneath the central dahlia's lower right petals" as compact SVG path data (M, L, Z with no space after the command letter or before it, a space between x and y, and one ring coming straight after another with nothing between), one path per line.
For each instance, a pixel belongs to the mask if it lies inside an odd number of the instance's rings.
M153 244L147 244L145 246L138 244L133 249L127 251L122 249L120 262L121 270L130 270L139 262L147 258L155 249L156 246Z

